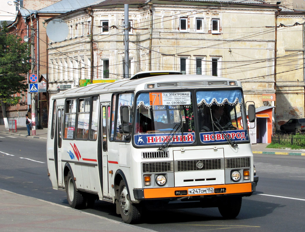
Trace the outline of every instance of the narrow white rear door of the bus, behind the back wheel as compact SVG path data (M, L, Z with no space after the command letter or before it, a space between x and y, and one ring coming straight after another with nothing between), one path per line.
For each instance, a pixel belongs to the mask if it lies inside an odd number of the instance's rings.
M63 127L63 106L57 107L57 162L58 162L58 185L63 187L63 168L61 162L61 143L62 143L62 127Z

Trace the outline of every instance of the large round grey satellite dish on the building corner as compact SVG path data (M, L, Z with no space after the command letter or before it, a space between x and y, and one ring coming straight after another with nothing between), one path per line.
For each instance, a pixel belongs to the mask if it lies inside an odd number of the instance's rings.
M64 41L68 33L68 25L61 19L53 19L47 25L47 35L54 42Z

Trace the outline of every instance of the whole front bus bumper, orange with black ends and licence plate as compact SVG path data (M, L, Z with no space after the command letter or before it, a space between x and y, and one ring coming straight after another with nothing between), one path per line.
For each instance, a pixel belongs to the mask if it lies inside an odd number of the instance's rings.
M244 194L249 196L253 192L255 192L255 187L256 187L255 182L249 182L249 183L239 183L239 184L134 189L133 194L135 199L181 198L188 196L193 197L193 196L218 195L218 194L221 195ZM211 188L213 188L213 191L211 191ZM210 192L210 193L190 194L190 190L193 189L198 190L199 192Z

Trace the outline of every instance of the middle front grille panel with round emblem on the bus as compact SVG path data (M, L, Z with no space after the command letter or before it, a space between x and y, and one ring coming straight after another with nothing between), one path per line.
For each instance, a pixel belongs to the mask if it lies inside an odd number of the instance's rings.
M175 172L224 169L224 159L177 160Z

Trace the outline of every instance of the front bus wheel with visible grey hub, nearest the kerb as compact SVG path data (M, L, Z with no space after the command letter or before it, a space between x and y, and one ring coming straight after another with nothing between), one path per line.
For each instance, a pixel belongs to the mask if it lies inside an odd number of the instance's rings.
M118 201L120 205L120 214L127 224L133 224L141 219L142 207L130 201L130 196L124 180L119 185Z

